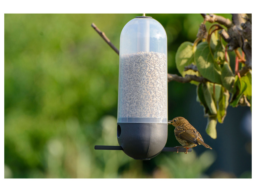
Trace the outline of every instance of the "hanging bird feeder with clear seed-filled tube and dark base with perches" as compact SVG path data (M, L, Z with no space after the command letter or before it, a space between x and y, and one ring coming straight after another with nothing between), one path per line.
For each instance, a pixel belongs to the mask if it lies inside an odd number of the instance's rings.
M117 140L137 160L149 160L167 141L167 36L152 17L136 17L120 35ZM182 150L180 150L182 151Z

